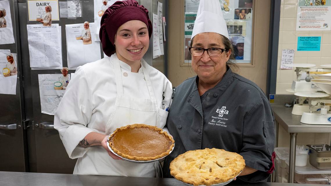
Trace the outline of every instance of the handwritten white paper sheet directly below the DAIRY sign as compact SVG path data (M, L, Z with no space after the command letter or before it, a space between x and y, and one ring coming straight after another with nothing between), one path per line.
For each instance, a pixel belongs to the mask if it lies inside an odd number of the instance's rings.
M30 67L62 67L61 26L28 24Z

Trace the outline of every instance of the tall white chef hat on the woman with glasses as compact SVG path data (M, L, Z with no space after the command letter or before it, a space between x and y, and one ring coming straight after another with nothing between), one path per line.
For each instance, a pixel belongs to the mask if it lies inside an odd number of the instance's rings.
M200 0L191 39L203 32L215 32L229 38L219 0Z

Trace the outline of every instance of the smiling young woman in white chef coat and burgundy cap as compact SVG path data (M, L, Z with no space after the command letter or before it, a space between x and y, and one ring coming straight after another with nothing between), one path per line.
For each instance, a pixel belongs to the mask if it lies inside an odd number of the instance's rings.
M166 124L171 83L142 59L151 34L148 10L134 0L118 1L103 15L100 40L110 57L77 68L54 116L69 157L78 158L74 174L160 175L159 163L118 160L106 144L118 127Z

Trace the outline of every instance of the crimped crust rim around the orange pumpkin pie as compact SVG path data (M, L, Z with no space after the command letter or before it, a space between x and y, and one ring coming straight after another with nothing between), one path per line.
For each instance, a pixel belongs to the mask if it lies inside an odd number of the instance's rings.
M154 157L137 157L137 156L130 156L130 155L127 155L127 154L124 154L122 152L120 152L116 147L113 146L113 143L110 141L111 138L117 133L117 131L119 130L124 130L124 129L133 129L133 128L142 128L142 127L147 127L147 128L151 128L157 132L159 132L160 134L165 134L166 137L169 138L169 140L172 142L170 148L162 153L161 155L157 155L157 156L154 156ZM112 150L118 154L119 156L121 156L122 158L126 158L126 159L129 159L129 160L135 160L135 161L150 161L150 160L156 160L156 159L159 159L159 158L162 158L164 156L167 156L168 154L170 154L170 151L172 150L174 144L175 144L175 141L173 140L173 138L164 130L162 130L161 128L158 128L156 126L151 126L151 125L146 125L146 124L132 124L132 125L126 125L126 126L122 126L120 128L117 128L109 137L109 146L112 148Z

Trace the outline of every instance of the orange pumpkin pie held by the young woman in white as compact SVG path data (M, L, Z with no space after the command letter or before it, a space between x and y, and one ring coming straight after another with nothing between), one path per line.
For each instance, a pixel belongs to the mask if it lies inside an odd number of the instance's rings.
M146 124L117 128L108 139L109 146L116 154L136 161L162 158L170 153L175 143L161 128Z

